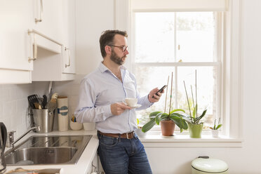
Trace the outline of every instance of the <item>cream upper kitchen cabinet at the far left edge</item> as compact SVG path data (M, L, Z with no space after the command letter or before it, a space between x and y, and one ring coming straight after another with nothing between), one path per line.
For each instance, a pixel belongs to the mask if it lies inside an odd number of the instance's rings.
M0 5L0 83L31 83L33 70L32 0L1 1Z

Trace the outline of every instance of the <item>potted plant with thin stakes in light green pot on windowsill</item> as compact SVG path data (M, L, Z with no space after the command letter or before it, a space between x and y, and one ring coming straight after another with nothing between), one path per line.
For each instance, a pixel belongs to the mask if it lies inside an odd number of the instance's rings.
M198 116L197 98L196 98L196 101L194 102L194 95L193 95L193 91L192 91L192 104L193 104L192 109L193 109L193 111L191 111L185 81L183 81L183 83L184 83L186 97L187 97L187 104L189 107L189 116L183 116L183 119L185 119L188 123L189 136L191 138L201 138L201 133L202 133L202 129L203 129L203 121L201 121L201 119L203 118L203 116L205 116L207 109L204 109L202 114L200 116ZM192 90L192 86L191 86L191 90ZM197 94L196 94L196 96L197 96Z

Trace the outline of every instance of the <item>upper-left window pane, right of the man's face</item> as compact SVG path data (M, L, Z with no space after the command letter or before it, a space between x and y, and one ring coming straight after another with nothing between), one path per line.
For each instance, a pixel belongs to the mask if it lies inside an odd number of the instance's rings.
M174 62L174 13L135 13L135 62Z

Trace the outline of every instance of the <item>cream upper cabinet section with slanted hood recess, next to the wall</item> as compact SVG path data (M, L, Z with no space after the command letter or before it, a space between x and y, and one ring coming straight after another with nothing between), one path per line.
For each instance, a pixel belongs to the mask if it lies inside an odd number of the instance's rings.
M38 38L32 81L73 80L75 1L34 0L34 21Z

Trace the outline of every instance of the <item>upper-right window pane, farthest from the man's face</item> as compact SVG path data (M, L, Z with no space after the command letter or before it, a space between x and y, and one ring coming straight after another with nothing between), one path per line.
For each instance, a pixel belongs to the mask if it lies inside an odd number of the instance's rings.
M177 60L213 62L215 19L213 12L179 12L177 15Z

